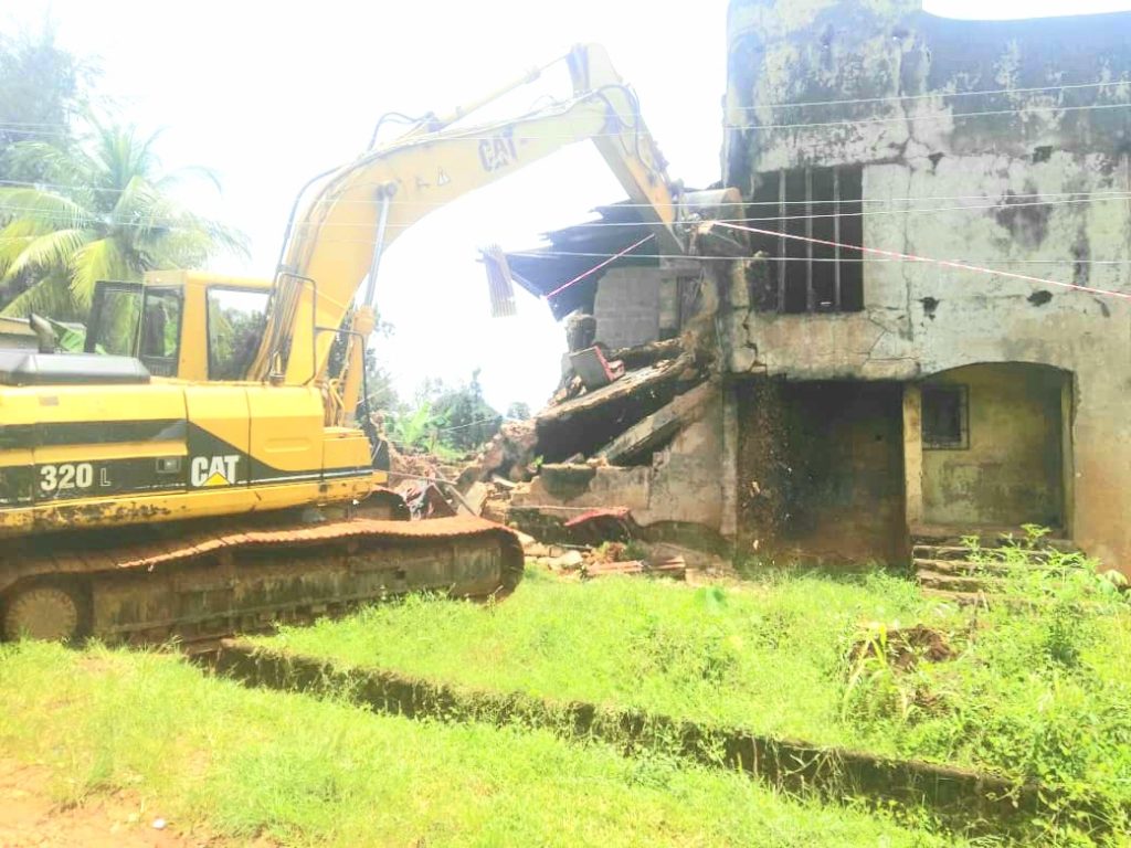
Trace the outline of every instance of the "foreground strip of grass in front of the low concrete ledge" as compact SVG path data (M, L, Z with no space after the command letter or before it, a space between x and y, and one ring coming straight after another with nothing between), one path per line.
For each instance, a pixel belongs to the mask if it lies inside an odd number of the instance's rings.
M284 845L955 843L663 756L373 716L98 647L0 646L0 750L52 768L61 801L129 788L174 825Z

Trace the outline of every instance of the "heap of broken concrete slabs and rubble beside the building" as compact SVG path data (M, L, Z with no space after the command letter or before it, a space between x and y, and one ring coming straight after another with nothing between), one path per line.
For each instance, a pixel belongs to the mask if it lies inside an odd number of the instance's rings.
M428 458L398 459L400 475L418 475L409 492L421 504L414 517L444 514L440 496L451 513L473 512L529 534L530 559L582 577L681 576L689 566L716 566L702 552L718 553L718 539L699 544L705 526L682 518L679 490L671 488L690 491L693 478L655 476L656 458L716 401L710 364L692 334L570 354L550 404L532 419L506 422L463 469L444 474ZM663 494L654 497L653 488ZM641 517L649 527L637 523ZM661 531L657 522L667 527ZM673 540L687 542L687 555ZM641 548L661 542L668 548Z

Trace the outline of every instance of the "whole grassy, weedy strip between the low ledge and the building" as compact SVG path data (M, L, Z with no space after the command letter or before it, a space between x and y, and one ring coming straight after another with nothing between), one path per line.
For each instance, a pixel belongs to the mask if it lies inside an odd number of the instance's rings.
M1131 804L1131 614L1077 566L1015 581L1031 608L988 612L924 599L879 572L778 573L728 590L535 572L497 606L409 598L260 642L457 685L988 767L1057 787L1068 801L1041 823L1045 836L1088 843L1072 804L1087 799L1116 829ZM848 657L860 640L879 646L888 629L915 623L942 633L956 657L909 670L882 649Z

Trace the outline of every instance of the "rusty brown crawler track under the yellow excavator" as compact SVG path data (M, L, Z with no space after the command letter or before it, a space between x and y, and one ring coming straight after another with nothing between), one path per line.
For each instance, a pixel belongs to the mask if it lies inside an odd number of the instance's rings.
M523 576L515 533L470 516L213 523L9 542L0 637L199 646L412 591L498 598Z

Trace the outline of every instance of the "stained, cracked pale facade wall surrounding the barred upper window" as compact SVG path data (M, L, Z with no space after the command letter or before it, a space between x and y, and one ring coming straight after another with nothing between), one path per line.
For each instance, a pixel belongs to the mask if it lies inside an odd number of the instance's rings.
M958 21L910 0L733 0L726 182L749 197L782 168L858 166L865 245L1126 292L1129 32L1131 14ZM1007 362L1071 372L1070 531L1131 568L1125 298L877 259L864 265L862 311L779 314L740 291L758 276L732 286L734 373L917 381Z

